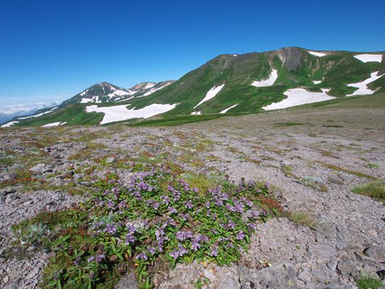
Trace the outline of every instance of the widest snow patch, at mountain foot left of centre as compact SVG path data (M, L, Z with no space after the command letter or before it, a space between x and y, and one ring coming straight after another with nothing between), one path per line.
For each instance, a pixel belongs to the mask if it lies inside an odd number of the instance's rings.
M115 105L113 107L98 107L97 105L90 105L86 107L87 112L102 112L104 117L100 125L109 122L116 122L122 120L129 120L130 118L149 118L157 114L163 114L166 111L174 109L177 103L173 105L159 105L154 103L142 109L127 109L127 105Z

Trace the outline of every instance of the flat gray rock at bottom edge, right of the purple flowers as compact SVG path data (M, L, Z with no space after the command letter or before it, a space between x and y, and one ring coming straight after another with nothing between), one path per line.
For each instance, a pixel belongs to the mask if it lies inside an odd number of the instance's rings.
M296 272L289 263L261 270L239 266L238 273L242 288L296 288Z

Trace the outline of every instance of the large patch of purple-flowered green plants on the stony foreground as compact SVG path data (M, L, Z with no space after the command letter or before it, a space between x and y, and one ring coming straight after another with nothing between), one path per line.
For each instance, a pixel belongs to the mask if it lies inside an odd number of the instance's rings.
M43 287L111 288L135 268L150 288L153 272L178 262L230 266L248 250L256 224L282 210L268 184L135 162L131 171L128 186L107 175L80 207L14 226L14 251L55 253Z

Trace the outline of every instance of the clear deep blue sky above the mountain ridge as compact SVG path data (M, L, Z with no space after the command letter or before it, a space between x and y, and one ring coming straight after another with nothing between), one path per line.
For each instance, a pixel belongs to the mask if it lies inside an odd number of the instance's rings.
M384 0L2 0L0 105L177 79L221 53L384 51L384 11Z

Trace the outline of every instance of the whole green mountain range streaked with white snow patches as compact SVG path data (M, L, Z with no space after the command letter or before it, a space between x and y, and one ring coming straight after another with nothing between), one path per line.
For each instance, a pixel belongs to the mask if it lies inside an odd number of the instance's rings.
M141 118L243 114L385 92L384 52L221 54L175 82L122 89L100 83L55 111L14 125L104 125ZM152 86L151 86L152 85ZM144 97L145 96L145 97Z

